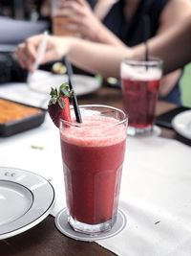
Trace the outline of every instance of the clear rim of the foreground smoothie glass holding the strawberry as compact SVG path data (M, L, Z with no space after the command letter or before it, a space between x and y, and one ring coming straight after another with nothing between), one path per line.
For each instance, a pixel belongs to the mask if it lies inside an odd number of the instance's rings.
M104 127L115 127L115 126L119 126L119 125L122 125L124 123L126 123L128 121L128 116L127 114L120 108L117 108L115 106L111 106L111 105L96 105L96 104L93 104L93 105L79 105L79 109L82 108L82 107L103 107L105 109L112 109L114 111L117 111L118 113L120 113L122 115L122 120L117 120L117 122L115 124L112 124L112 125L108 125L106 126L104 124ZM70 109L74 110L74 106L73 105L70 105ZM64 119L60 119L60 124L61 123L64 123L66 125L69 125L69 126L72 126L72 127L83 127L83 118L82 118L82 123L72 123L72 122L69 122L69 121L66 121ZM94 126L91 126L91 127L94 127Z

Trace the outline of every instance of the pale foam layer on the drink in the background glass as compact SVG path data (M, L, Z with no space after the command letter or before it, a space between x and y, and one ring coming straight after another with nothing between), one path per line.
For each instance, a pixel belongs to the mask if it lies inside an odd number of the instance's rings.
M132 81L156 81L161 78L161 70L158 67L121 65L121 78Z

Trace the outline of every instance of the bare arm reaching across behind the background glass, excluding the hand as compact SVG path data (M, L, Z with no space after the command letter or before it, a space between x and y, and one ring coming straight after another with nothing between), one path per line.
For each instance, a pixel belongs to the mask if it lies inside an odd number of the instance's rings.
M148 41L149 53L164 60L163 73L167 74L191 61L191 15L168 31ZM119 77L123 58L144 56L145 44L136 47L116 47L72 38L68 56L81 68L100 73L104 77Z

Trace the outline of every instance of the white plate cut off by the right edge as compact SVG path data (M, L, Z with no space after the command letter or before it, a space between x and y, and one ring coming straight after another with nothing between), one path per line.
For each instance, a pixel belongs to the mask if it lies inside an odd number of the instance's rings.
M191 110L176 115L172 120L172 126L181 136L191 140Z

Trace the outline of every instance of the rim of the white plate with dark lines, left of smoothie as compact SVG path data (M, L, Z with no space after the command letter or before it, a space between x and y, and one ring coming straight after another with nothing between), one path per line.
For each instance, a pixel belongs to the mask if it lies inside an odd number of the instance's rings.
M49 182L48 179L46 179L42 175L38 175L36 173L33 173L31 171L27 171L27 170L24 170L24 169L7 167L7 166L6 167L5 166L0 166L0 174L2 172L5 172L5 171L7 171L7 172L9 172L9 171L20 172L20 173L25 174L25 175L26 174L27 175L32 175L32 176L35 176L35 178L36 177L39 178L39 180L44 181L46 186L48 186L47 188L50 189L50 192L49 192L50 195L49 196L51 196L51 198L49 198L49 201L47 202L48 203L47 207L44 208L40 213L37 213L35 218L31 217L31 220L27 221L28 220L28 216L27 216L27 220L26 221L24 220L23 224L19 224L19 221L21 221L21 223L22 223L22 218L25 218L26 215L30 215L32 210L35 210L35 208L33 209L32 207L35 206L34 202L36 200L36 192L35 192L35 196L34 196L34 192L32 192L32 189L29 186L23 185L19 181L11 180L12 177L10 177L10 176L8 178L5 177L4 179L2 179L0 177L0 180L11 181L11 182L16 183L18 185L26 187L26 189L28 189L32 193L32 197L33 197L32 206L28 209L28 211L25 214L23 214L20 217L18 217L18 219L8 223L8 225L16 223L16 227L13 227L12 230L8 230L7 232L0 233L0 240L11 238L11 237L13 237L15 235L23 233L24 231L27 231L27 230L31 229L33 226L35 226L39 222L43 221L51 213L51 210L53 209L53 206L54 206L54 203L55 203L55 191L53 189L53 185L51 184L51 182ZM17 223L17 221L18 221L18 223ZM0 225L0 227L1 226L5 227L6 224L2 224L2 225Z

